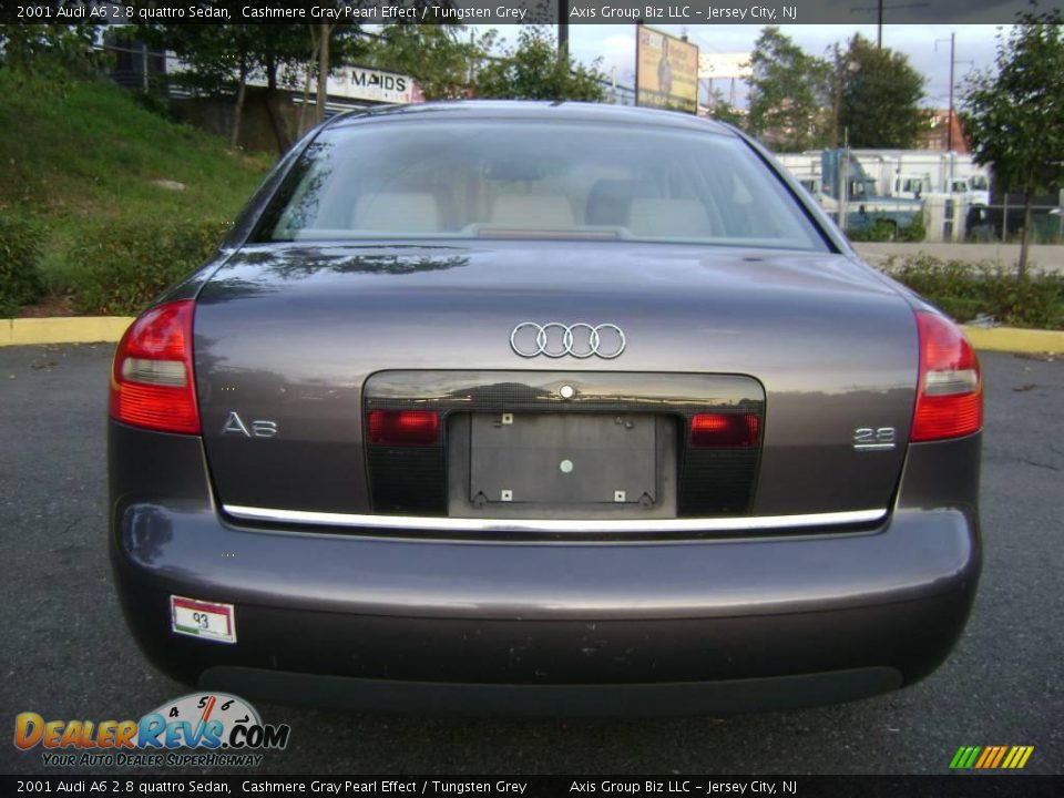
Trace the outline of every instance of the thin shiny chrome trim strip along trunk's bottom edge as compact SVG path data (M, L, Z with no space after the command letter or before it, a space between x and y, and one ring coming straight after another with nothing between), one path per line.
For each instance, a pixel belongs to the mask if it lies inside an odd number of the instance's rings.
M751 530L804 529L880 521L887 510L852 510L807 515L756 515L732 519L646 519L610 521L574 519L459 519L424 515L358 515L349 513L309 512L306 510L269 510L237 504L223 504L226 513L247 521L274 521L355 526L367 529L417 530L438 532L748 532Z

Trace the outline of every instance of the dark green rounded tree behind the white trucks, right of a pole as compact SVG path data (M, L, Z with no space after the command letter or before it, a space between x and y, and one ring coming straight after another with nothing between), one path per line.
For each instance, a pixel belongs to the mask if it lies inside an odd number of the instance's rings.
M915 146L924 120L920 109L924 79L906 55L855 35L838 64L836 80L841 82L839 126L849 129L851 146Z

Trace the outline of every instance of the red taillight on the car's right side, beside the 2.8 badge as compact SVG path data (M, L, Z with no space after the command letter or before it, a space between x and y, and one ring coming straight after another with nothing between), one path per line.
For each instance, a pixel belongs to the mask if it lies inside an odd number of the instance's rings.
M920 377L912 417L913 441L960 438L983 426L979 358L964 334L938 314L917 311Z

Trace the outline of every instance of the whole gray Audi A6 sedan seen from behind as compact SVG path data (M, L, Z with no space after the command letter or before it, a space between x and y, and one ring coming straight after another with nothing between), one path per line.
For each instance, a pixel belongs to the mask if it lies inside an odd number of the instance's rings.
M393 713L912 684L980 570L982 386L756 142L338 116L117 347L110 546L165 673Z

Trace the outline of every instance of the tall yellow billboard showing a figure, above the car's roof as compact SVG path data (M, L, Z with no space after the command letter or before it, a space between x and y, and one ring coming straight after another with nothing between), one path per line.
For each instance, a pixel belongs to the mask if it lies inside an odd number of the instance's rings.
M698 48L640 25L635 43L635 104L698 110Z

